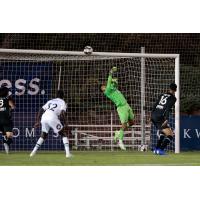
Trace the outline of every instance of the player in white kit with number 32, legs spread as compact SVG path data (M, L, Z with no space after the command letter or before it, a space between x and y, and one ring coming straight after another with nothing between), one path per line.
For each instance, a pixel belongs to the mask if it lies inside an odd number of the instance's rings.
M59 90L57 92L57 98L48 101L40 109L36 118L35 127L39 126L41 119L42 134L38 139L33 151L31 152L30 157L36 154L39 147L47 138L50 129L53 129L54 133L59 133L62 136L66 157L67 158L71 157L71 154L69 152L69 141L66 136L66 133L64 132L64 126L66 125L65 113L67 106L63 98L64 98L64 93L63 91ZM60 120L63 121L64 126L62 125Z

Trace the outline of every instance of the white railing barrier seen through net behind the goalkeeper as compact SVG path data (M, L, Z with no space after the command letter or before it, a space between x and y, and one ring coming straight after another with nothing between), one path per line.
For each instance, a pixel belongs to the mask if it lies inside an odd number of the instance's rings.
M110 149L118 148L113 143L115 129L119 129L118 125L69 125L72 128L72 148L79 149ZM95 128L95 130L94 130ZM99 130L97 130L99 129ZM102 131L102 129L105 129ZM145 140L146 145L150 144L150 126L146 125ZM142 144L141 125L134 125L125 132L124 143L128 149L138 149L138 145Z

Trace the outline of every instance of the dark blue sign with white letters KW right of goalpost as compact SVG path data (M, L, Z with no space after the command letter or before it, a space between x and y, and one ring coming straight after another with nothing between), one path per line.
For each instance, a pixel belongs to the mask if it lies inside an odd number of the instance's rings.
M181 116L181 150L200 150L200 116Z

